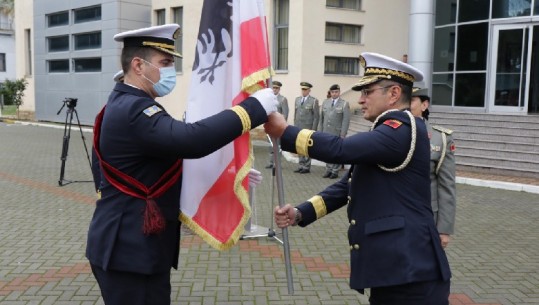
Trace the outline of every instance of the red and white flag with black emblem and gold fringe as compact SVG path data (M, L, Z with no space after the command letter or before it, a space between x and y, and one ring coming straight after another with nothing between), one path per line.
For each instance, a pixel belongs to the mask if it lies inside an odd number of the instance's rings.
M262 0L204 0L187 122L228 109L271 76ZM184 160L181 221L219 250L232 247L250 217L246 133L219 151Z

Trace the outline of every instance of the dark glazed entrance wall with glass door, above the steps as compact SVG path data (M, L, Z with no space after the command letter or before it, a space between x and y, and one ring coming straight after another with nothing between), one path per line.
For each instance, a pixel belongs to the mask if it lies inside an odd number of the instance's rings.
M539 114L539 0L436 0L435 109Z

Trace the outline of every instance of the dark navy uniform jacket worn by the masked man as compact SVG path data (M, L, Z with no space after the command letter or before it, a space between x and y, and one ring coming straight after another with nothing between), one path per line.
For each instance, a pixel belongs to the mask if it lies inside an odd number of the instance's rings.
M239 106L249 115L251 126L267 121L255 98L247 98ZM105 108L100 152L110 165L150 187L178 158L208 155L240 136L242 130L234 111L186 124L173 119L144 91L118 83ZM101 199L96 202L86 248L90 263L104 270L142 274L177 268L181 179L156 199L166 228L153 235L142 232L145 201L120 192L102 174L100 180Z

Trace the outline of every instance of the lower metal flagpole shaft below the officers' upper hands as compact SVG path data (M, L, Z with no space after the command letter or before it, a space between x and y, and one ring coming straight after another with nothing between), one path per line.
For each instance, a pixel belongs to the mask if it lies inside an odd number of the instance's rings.
M273 144L273 159L275 164L273 170L277 180L277 197L279 206L284 206L284 187L283 187L283 172L281 168L281 154L279 152L279 139L272 137ZM288 228L283 228L283 246L284 246L284 261L286 265L286 279L288 282L288 294L294 294L294 283L292 279L292 263L290 261L290 244L288 243Z

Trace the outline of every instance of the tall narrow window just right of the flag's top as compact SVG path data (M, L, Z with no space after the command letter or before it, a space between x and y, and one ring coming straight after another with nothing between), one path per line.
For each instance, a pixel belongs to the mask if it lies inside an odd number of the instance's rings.
M288 70L288 18L289 0L275 1L274 60L275 70Z

